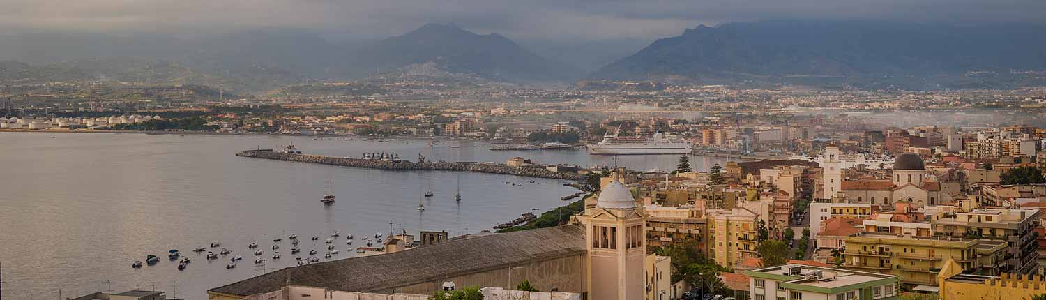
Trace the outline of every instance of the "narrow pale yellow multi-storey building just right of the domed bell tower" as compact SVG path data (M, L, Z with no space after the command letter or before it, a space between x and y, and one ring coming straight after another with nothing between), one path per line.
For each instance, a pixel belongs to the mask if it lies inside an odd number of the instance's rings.
M723 267L755 257L759 215L745 208L708 210L708 257Z

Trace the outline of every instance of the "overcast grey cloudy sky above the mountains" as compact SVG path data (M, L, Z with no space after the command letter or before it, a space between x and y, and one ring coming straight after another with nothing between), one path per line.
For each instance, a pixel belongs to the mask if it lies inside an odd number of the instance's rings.
M1044 13L1044 0L0 0L0 33L277 27L380 39L425 23L455 23L513 39L596 41L759 20L1043 23Z

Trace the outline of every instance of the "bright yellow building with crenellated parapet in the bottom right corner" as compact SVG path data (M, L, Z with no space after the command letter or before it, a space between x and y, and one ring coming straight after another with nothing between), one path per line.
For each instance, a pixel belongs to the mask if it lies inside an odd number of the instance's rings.
M1041 276L962 274L962 267L949 260L937 274L940 300L1031 300L1046 294Z

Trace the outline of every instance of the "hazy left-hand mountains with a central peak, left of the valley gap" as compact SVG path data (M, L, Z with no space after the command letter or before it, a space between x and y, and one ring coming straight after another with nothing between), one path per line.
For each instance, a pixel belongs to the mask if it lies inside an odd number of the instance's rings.
M360 79L380 73L520 83L568 83L584 75L500 34L476 34L441 24L354 43L335 43L305 30L279 28L188 37L0 34L0 61L35 67L33 72L0 74L0 78L159 82L191 77L198 79L195 84L224 85L249 93L308 79ZM9 72L7 69L0 73ZM59 70L74 73L54 72Z

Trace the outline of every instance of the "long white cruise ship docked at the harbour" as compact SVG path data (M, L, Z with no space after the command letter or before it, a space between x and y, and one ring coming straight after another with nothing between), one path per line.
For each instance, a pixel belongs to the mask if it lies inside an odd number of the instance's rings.
M673 142L664 138L664 134L656 133L653 138L644 137L604 137L597 144L590 144L592 155L656 155L656 154L690 154L690 143Z

